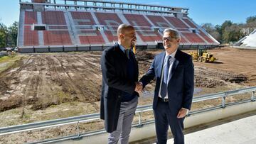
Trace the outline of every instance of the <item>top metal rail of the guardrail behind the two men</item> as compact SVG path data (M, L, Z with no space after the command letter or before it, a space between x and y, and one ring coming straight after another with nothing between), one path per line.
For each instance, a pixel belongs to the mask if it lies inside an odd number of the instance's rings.
M252 92L256 91L256 87L247 87L244 89L237 89L237 90L231 90L227 92L219 92L216 94L206 94L202 96L196 96L193 98L193 103L198 101L205 101L209 99L216 99L223 96L233 95L233 94L241 94L245 92ZM226 105L228 106L228 104ZM136 113L141 113L145 111L152 111L152 105L144 105L144 106L138 106ZM203 110L204 111L204 110ZM193 113L192 111L190 112ZM0 135L6 135L9 133L17 133L17 132L23 132L23 131L31 131L31 130L37 130L41 128L50 128L55 126L63 126L67 124L73 124L78 122L88 122L88 121L95 121L100 120L100 113L92 113L88 115L82 115L82 116L73 116L69 118L60 118L50 121L43 121L43 122L36 122L36 123L28 123L18 126L9 126L5 128L0 128Z

